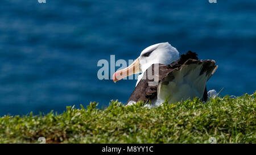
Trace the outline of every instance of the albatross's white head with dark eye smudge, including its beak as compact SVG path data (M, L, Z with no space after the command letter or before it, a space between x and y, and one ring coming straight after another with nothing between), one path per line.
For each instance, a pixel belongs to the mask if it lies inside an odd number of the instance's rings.
M116 82L131 74L143 73L152 64L171 64L179 59L179 52L168 42L151 45L145 48L141 55L125 69L118 70L113 74L113 81Z

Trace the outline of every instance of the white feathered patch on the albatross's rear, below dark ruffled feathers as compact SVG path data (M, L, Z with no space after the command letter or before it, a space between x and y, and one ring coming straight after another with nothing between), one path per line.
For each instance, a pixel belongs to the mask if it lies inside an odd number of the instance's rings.
M185 65L180 70L174 70L174 80L168 85L159 83L158 96L155 105L158 106L168 99L169 103L179 102L180 100L202 98L205 90L205 83L208 77L206 72L200 75L203 65ZM153 103L154 104L154 103Z

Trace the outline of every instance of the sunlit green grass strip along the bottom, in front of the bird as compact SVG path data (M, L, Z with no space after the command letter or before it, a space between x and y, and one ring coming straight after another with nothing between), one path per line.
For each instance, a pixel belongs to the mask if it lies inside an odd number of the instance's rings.
M255 100L245 94L202 103L199 99L158 108L142 103L123 106L113 101L108 108L67 107L63 114L3 116L0 143L255 143Z

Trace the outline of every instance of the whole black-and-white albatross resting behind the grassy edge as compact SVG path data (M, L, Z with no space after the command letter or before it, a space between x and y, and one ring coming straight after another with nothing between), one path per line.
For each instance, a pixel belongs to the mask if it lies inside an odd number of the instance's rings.
M179 57L177 49L167 42L144 49L133 64L113 74L113 81L141 73L126 105L141 100L154 107L165 100L176 103L195 97L206 101L206 83L217 68L214 60L199 60L191 51Z

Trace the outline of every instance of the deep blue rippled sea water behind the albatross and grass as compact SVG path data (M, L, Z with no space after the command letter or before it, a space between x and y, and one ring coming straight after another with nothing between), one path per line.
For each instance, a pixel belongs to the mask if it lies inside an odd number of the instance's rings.
M134 60L149 45L166 41L180 53L216 60L208 89L252 94L255 30L255 0L2 0L0 116L126 102L136 80L99 80L98 60Z

